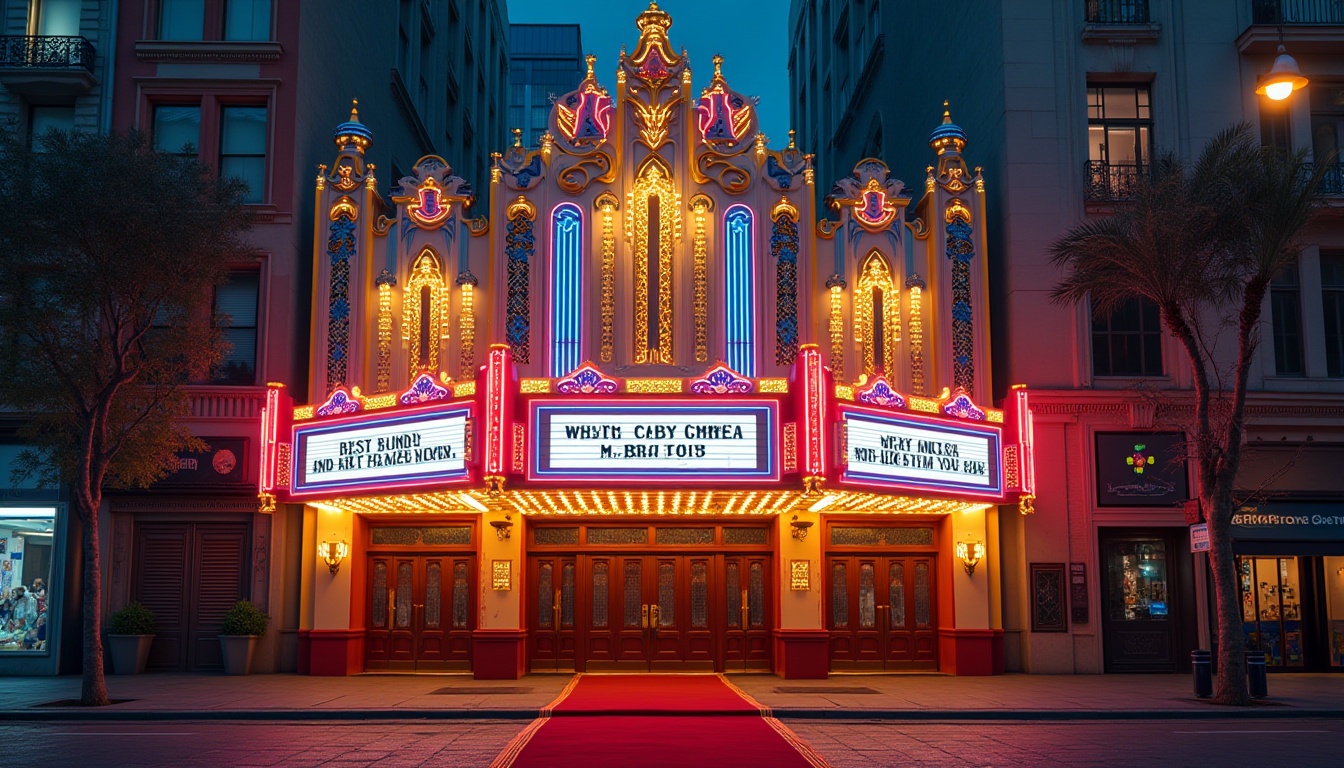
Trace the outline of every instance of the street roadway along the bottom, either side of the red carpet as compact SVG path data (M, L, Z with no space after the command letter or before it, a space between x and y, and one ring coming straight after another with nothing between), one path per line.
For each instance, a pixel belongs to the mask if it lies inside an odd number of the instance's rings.
M669 726L675 728L675 722ZM1339 718L788 721L832 768L896 765L1335 767ZM524 721L0 722L5 765L32 768L485 768ZM723 755L712 765L734 765ZM594 767L597 768L597 767ZM710 764L696 768L711 768Z

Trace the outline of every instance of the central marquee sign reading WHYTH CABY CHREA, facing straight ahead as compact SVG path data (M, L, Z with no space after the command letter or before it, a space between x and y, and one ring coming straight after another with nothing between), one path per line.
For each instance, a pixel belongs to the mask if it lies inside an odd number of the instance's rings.
M774 402L531 406L528 477L778 479Z

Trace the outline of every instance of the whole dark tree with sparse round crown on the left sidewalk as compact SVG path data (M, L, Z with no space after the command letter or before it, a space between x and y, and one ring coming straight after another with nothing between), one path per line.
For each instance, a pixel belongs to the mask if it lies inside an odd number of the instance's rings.
M70 487L83 527L81 703L103 682L98 508L103 488L167 476L203 445L184 385L224 352L212 291L253 258L238 182L140 133L0 140L0 405L27 417L19 475Z

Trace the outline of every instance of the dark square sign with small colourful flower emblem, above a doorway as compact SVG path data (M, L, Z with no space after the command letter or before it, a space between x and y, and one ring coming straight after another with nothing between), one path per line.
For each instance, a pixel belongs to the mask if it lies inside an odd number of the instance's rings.
M1189 498L1185 436L1180 432L1097 434L1097 503L1169 507Z

